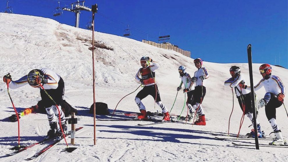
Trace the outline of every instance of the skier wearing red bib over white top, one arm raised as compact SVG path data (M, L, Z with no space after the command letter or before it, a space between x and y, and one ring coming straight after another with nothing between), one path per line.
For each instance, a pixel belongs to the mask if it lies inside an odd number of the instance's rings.
M144 88L140 90L135 97L135 102L141 112L141 114L138 115L138 119L147 119L146 108L141 102L141 100L148 95L151 95L154 98L154 101L156 100L156 103L160 106L162 112L164 113L163 120L169 121L169 112L164 106L164 104L161 102L158 86L155 82L155 70L157 70L160 65L157 62L153 61L151 58L145 56L140 59L140 64L142 67L138 70L135 78L140 81L142 85L144 85Z

